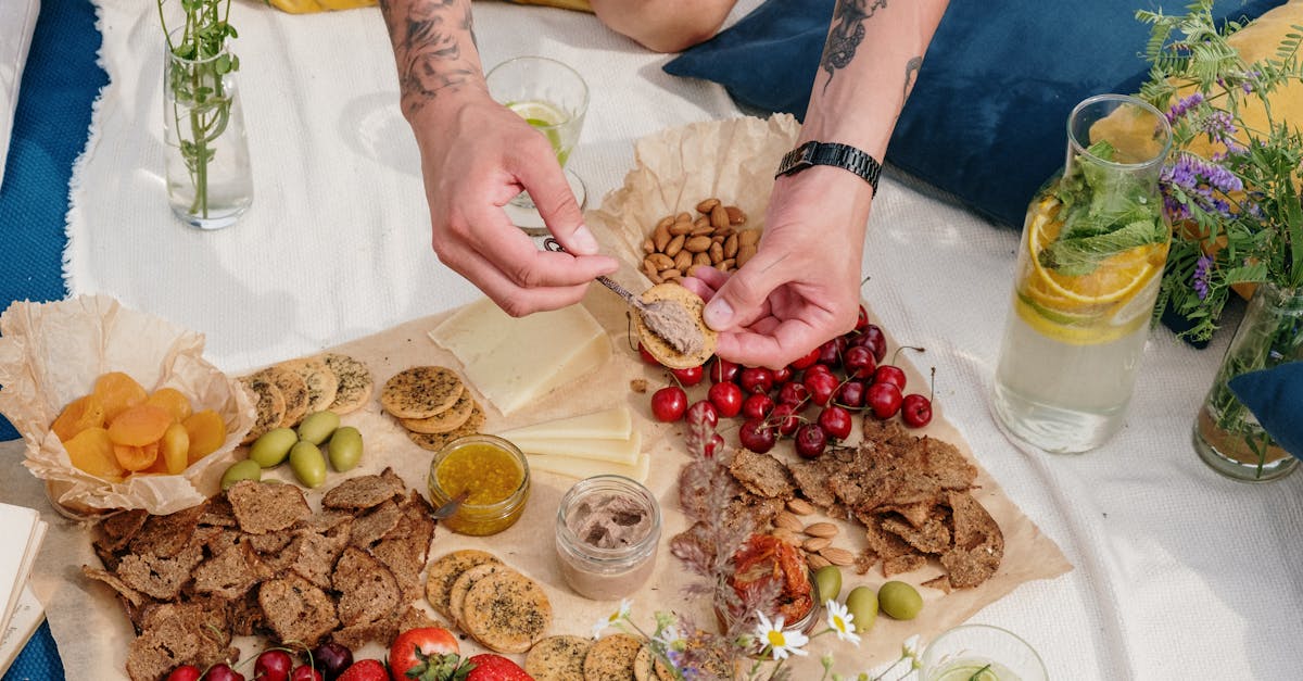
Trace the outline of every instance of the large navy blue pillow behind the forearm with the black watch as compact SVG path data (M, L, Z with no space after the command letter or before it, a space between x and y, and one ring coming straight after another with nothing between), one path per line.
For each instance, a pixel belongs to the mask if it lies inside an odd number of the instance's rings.
M740 104L804 117L834 0L769 0L665 70L715 81ZM1253 18L1281 0L1217 3ZM1154 3L1167 13L1184 3ZM1020 228L1027 202L1063 164L1072 107L1134 93L1147 74L1148 0L952 0L919 73L887 160Z

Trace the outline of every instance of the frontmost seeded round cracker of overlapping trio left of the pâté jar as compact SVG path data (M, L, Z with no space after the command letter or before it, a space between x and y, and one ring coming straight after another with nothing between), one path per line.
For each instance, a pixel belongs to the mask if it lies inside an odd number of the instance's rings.
M463 614L466 633L485 647L525 652L551 625L552 605L538 582L516 571L502 571L470 587Z

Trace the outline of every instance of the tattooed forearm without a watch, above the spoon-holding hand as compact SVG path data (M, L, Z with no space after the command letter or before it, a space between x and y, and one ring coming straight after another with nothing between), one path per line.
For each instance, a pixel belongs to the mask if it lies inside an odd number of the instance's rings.
M405 113L416 113L439 93L455 91L476 76L473 60L461 51L463 38L474 42L469 1L382 0L380 12L394 42Z

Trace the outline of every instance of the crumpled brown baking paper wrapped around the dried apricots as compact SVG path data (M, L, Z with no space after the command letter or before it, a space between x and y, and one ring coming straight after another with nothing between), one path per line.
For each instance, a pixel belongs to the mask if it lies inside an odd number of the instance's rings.
M132 475L109 483L72 464L50 425L95 380L120 371L146 391L176 387L195 411L212 408L227 423L227 440L181 475ZM159 317L132 310L108 296L57 303L20 301L0 316L0 412L27 444L27 467L47 484L61 511L104 509L173 513L215 493L236 445L254 423L254 406L238 384L203 359L203 337Z

